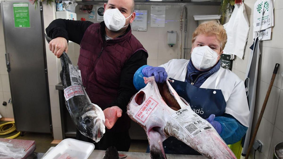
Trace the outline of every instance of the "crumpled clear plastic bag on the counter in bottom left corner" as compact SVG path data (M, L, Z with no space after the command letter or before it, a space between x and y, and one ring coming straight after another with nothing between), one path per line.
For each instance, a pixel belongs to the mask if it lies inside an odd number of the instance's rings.
M13 144L0 141L0 158L15 158L20 159L25 156L27 152L23 148L14 148Z

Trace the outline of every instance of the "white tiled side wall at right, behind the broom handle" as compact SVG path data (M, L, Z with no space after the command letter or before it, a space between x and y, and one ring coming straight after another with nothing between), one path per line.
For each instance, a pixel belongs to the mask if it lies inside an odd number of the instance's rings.
M245 1L245 7L248 14L248 19L250 25L253 23L253 8L256 0ZM256 136L256 140L260 140L263 143L263 152L256 152L256 158L272 158L274 146L278 142L283 141L283 87L282 87L282 76L283 71L283 45L282 45L282 36L283 30L281 25L283 15L283 1L275 1L275 10L274 10L274 28L271 35L271 40L261 41L260 42L260 51L261 56L259 60L259 70L258 70L258 83L257 83L257 92L256 92L256 106L254 113L254 121L252 126L252 132L254 130L255 124L257 122L259 113L265 95L271 80L273 69L275 63L279 63L280 67L278 74L276 75L269 100L265 112L263 114L263 119ZM247 48L249 48L253 43L252 31L250 29ZM244 59L236 58L233 61L233 72L237 74L240 78L245 77L246 66L248 57L248 52L250 49L246 49ZM242 78L243 79L243 78ZM250 157L253 158L254 151L251 152Z

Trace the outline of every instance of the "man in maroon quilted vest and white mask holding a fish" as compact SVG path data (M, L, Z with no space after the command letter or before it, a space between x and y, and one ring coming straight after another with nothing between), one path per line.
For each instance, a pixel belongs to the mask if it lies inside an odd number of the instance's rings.
M134 73L146 65L148 54L131 33L129 24L136 15L134 1L109 0L104 10L104 22L57 19L46 28L46 33L53 39L49 48L58 58L68 51L68 40L81 46L78 66L83 85L91 102L102 108L109 129L95 143L95 149L115 146L118 151L128 151L127 104L137 92L132 82ZM76 139L94 142L78 130Z

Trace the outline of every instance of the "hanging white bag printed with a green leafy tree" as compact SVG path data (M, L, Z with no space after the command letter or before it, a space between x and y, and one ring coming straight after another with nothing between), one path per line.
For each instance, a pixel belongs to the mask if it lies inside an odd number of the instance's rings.
M257 0L254 4L254 32L273 27L273 4L271 0Z

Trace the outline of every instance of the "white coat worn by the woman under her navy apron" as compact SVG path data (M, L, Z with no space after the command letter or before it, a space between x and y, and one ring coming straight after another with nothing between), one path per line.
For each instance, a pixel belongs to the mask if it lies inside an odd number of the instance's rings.
M185 81L189 60L172 59L160 67L164 67L168 78ZM200 88L220 89L226 101L225 113L235 117L248 127L249 107L246 98L245 84L236 74L220 67Z

